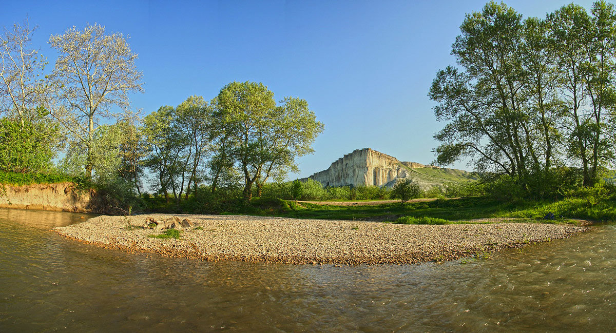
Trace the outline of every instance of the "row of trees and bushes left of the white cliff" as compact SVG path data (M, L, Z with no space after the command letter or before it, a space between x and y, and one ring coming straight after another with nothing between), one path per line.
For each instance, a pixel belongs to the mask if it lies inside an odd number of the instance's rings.
M101 25L52 35L53 70L31 46L28 22L0 34L0 171L61 173L179 203L243 184L243 198L298 171L323 130L306 100L260 82L230 82L211 100L190 96L140 117L137 54Z

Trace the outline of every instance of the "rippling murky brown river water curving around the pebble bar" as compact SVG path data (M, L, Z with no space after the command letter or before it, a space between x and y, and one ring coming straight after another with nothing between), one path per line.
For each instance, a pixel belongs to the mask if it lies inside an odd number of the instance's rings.
M490 259L334 267L100 249L0 209L0 332L614 332L616 227ZM86 216L87 217L87 216Z

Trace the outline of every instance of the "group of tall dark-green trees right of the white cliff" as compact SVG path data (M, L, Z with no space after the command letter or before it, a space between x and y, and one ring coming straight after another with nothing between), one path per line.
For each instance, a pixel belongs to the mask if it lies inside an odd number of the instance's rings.
M434 135L438 164L469 159L530 196L601 183L616 162L614 5L523 19L488 2L460 31L457 66L439 71L429 91L447 122Z

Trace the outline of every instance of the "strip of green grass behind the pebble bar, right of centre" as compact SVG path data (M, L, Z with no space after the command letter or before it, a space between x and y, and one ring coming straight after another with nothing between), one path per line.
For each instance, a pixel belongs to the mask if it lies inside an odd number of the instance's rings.
M615 221L616 202L591 205L583 199L557 202L524 201L503 203L487 198L436 200L428 203L381 204L376 206L326 206L302 203L294 209L291 201L279 203L257 201L244 214L296 217L300 219L393 221L402 216L435 217L446 220L471 220L492 217L516 217L548 222L543 217L552 212L565 219ZM229 213L231 214L231 213Z

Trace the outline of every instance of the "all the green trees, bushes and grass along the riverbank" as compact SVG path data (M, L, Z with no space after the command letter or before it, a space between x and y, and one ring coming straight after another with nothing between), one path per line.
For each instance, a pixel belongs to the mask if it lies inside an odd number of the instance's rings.
M423 189L285 182L324 128L306 100L230 82L211 98L137 111L129 97L144 78L123 34L87 25L51 36L59 57L48 71L30 44L34 32L25 22L0 34L0 183L78 182L118 213L616 217L616 10L604 1L545 18L523 19L495 2L466 15L452 47L457 66L437 73L429 97L445 123L434 135L436 164L469 161L475 173ZM404 203L412 198L439 199Z

